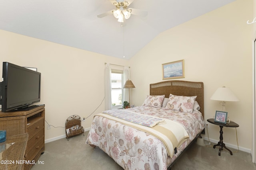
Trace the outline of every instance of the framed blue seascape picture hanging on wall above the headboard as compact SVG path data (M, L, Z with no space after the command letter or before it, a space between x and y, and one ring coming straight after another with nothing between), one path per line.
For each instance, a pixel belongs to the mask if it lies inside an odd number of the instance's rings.
M162 64L162 78L163 80L185 78L184 60Z

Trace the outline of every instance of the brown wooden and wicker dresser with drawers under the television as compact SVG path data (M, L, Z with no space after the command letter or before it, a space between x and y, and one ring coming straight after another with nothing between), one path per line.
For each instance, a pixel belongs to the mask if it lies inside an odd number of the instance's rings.
M28 133L25 160L35 162L44 152L44 106L29 111L0 112L0 130L6 130L6 137ZM16 161L16 160L14 160ZM29 170L33 164L24 164Z

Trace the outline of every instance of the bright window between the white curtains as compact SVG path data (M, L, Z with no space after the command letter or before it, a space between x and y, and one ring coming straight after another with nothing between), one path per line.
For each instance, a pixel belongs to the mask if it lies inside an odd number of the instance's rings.
M122 97L123 97L123 71L122 70L112 70L111 73L111 99L112 108L122 107Z

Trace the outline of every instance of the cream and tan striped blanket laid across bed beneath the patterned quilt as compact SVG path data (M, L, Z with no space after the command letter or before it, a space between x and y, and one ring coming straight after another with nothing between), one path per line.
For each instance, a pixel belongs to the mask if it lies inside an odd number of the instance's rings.
M106 113L99 113L95 116L102 116L108 119L112 119L157 137L165 145L167 153L170 157L174 155L174 149L178 148L184 141L189 138L186 129L180 123L169 119L164 119L166 122L165 124L155 125L154 127L147 127L126 121L124 119L119 119L118 117L113 117Z

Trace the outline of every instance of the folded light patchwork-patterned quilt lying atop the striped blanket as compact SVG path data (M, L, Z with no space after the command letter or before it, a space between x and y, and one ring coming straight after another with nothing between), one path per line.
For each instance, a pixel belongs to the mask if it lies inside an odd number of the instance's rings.
M166 123L164 121L164 119L162 119L160 117L155 117L155 116L150 116L150 115L143 115L143 114L140 114L140 113L129 111L128 109L106 110L106 111L103 111L103 113L112 115L114 117L118 117L119 119L130 121L132 123L147 126L147 127L154 127L157 124Z

